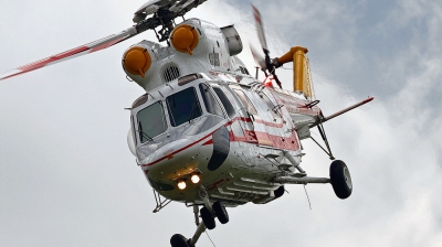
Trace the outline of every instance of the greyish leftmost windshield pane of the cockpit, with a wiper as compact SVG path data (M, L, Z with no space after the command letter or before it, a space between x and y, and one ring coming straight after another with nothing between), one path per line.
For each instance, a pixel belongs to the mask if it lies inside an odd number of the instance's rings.
M165 112L160 101L155 103L137 114L138 137L140 142L151 140L167 129Z

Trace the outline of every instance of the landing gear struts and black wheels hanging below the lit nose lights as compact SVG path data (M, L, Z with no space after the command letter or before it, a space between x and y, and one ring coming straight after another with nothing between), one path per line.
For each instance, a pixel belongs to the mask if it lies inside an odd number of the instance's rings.
M214 221L215 217L221 224L229 222L229 214L224 205L222 205L222 203L219 201L211 204L209 201L209 195L202 185L200 186L199 196L204 202L204 205L201 207L201 210L198 210L198 205L193 205L196 218L194 223L197 224L197 230L194 232L193 237L187 239L181 234L175 234L170 238L170 245L172 247L194 247L206 228L213 229L217 226ZM200 214L199 216L201 216L201 223L199 222L198 213Z

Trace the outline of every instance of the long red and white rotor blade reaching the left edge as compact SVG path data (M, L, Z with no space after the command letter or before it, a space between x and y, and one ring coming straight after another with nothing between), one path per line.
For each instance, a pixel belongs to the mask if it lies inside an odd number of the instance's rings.
M2 75L0 75L0 80L10 78L12 76L21 75L28 72L32 72L39 68L42 68L48 65L56 64L66 60L71 60L81 55L85 55L88 53L97 52L99 50L107 49L114 44L117 44L124 40L127 40L138 33L136 26L131 26L127 30L124 30L120 33L109 35L107 37L87 43L85 45L78 46L76 49L72 49L53 56L46 57L44 60L36 61L34 63L27 64L24 66L14 68L9 71Z

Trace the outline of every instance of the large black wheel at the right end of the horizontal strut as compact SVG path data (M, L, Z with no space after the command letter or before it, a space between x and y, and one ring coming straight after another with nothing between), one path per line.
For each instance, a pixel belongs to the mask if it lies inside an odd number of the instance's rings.
M350 172L341 160L335 160L330 164L330 183L336 196L347 198L351 195L352 183Z

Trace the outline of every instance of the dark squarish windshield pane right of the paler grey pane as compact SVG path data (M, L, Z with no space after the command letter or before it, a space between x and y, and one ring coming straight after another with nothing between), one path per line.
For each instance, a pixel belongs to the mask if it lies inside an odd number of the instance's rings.
M193 87L186 88L166 98L170 124L176 127L202 115L197 92Z

